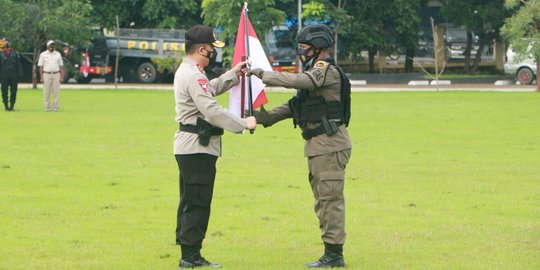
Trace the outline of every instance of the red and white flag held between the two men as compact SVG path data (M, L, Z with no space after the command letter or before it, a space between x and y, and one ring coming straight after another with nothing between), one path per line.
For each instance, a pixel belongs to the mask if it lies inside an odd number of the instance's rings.
M242 56L246 56L246 29L245 29L245 17L246 16L246 5L242 9L240 15L240 22L238 23L238 33L236 34L236 44L234 46L234 55L233 55L233 67L242 61ZM249 28L249 54L251 60L251 69L261 68L263 70L272 70L268 58L266 58L266 53L257 38L255 30L248 19L248 28ZM251 91L253 98L253 108L258 108L261 105L268 103L266 94L264 93L265 84L261 79L251 76ZM247 109L249 100L248 100L248 78L245 80L245 93L244 93L244 106L242 106L242 83L235 85L231 88L229 95L229 111L234 115L242 117L244 112L242 108Z

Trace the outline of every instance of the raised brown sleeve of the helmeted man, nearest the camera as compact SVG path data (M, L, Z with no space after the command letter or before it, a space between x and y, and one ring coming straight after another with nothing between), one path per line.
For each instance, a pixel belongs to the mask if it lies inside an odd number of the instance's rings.
M265 71L262 80L270 86L311 90L324 85L328 66L327 62L319 61L313 69L298 74Z

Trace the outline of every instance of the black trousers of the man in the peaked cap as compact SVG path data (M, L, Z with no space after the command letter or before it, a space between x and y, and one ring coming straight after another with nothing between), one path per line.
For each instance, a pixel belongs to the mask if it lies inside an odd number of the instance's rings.
M206 235L216 178L216 156L175 155L180 170L176 244L198 247Z

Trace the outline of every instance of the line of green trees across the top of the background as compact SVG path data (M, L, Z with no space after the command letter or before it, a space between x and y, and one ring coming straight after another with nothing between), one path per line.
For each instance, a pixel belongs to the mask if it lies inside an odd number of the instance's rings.
M187 29L198 23L216 27L221 39L232 41L244 1L222 0L0 0L0 37L10 37L19 50L34 51L34 62L46 40L84 46L90 26L114 28ZM422 8L428 0L304 0L302 21L324 22L336 29L341 55L359 59L367 51L371 70L377 52L396 47L406 53L405 70L412 70L420 38ZM259 37L272 26L297 20L297 0L248 1L250 20ZM507 39L523 54L531 53L523 40L538 40L540 0L442 0L440 14L465 27L469 45L474 32L480 50L493 40ZM502 30L502 31L501 31ZM502 35L504 34L504 36ZM233 42L228 42L232 44ZM527 44L530 44L527 43ZM465 70L474 73L481 57L466 51ZM232 48L229 48L232 50ZM532 54L539 59L540 44ZM538 62L538 61L537 61Z

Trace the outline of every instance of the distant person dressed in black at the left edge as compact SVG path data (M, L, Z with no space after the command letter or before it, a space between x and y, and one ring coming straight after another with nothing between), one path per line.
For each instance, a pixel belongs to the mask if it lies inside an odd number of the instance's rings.
M0 53L0 82L2 82L2 102L6 111L13 111L17 100L17 84L22 77L21 57L10 46L9 39L4 40L4 50ZM8 88L10 96L8 97ZM9 102L9 105L8 105Z

